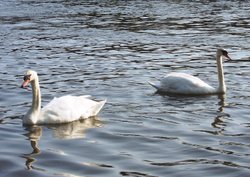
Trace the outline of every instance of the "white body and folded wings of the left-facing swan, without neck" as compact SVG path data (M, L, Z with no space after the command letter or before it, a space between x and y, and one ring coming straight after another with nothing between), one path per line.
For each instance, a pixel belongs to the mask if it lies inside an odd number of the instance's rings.
M54 98L42 109L39 123L65 123L96 116L106 100L97 102L89 97L67 95Z

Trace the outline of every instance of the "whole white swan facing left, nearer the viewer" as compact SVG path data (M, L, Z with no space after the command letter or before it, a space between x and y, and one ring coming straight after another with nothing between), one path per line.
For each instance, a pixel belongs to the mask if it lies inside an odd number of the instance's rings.
M106 100L93 101L88 95L66 95L54 98L41 109L41 92L37 73L29 70L23 80L21 87L24 88L31 83L33 92L32 106L23 118L24 124L56 124L88 118L97 115L106 102Z

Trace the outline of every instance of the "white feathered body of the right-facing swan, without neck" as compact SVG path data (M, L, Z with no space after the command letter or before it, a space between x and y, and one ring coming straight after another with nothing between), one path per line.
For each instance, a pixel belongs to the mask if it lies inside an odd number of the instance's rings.
M150 84L159 92L170 94L201 95L216 93L215 88L198 77L186 73L170 73L167 74L158 85L153 83Z

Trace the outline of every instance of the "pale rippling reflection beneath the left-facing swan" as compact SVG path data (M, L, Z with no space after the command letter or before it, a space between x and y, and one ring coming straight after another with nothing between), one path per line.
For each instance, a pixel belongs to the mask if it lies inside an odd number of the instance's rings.
M32 166L36 161L36 156L41 153L39 149L39 140L42 138L43 127L52 129L53 134L56 138L60 139L77 139L85 138L86 131L90 128L101 127L102 123L98 117L91 117L88 119L77 120L65 124L54 124L54 125L31 125L26 126L25 130L28 133L25 136L30 140L31 147L33 151L29 154L23 154L22 157L26 159L26 167L28 170L37 169L42 170L37 167Z

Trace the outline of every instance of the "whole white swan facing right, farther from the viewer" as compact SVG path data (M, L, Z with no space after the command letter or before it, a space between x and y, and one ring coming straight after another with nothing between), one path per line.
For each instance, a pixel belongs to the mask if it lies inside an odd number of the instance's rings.
M218 88L214 88L198 77L194 77L185 73L170 73L167 74L159 85L149 82L155 87L158 92L169 94L184 94L184 95L206 95L206 94L220 94L226 92L226 84L224 80L224 72L222 65L222 56L231 60L228 52L224 49L217 49L216 62L218 70Z

